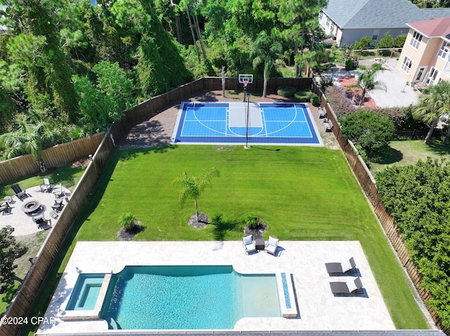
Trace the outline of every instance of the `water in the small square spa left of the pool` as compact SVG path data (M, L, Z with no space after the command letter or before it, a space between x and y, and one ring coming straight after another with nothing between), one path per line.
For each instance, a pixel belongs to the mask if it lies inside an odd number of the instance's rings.
M96 306L105 274L79 274L66 310L91 310Z

